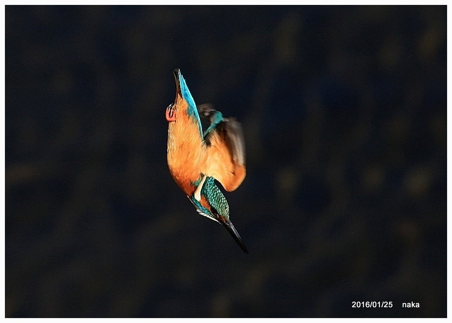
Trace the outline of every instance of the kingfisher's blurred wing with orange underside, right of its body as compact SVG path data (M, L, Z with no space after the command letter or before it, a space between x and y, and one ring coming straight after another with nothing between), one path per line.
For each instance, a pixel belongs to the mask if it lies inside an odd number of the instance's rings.
M200 105L199 114L210 117L211 124L204 132L205 153L201 172L217 179L230 192L246 176L245 141L242 126L235 118L224 118L210 105Z

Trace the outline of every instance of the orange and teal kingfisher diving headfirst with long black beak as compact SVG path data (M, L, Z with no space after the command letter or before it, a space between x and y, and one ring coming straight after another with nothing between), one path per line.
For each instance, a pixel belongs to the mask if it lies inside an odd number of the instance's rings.
M169 173L199 214L222 224L243 252L248 249L229 219L229 206L215 180L227 192L245 178L245 142L240 123L223 117L210 104L198 107L179 69L175 69L176 97L166 110ZM199 115L210 125L203 132Z

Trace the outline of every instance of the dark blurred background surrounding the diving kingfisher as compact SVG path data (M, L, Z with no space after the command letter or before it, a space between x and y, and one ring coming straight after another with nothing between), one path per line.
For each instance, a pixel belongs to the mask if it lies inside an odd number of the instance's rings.
M6 317L446 317L446 6L5 15ZM169 175L174 68L243 124L248 256Z

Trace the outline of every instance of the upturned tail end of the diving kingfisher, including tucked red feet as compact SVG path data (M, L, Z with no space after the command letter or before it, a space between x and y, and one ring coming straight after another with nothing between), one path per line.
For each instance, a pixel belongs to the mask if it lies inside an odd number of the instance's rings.
M173 75L174 83L176 85L176 97L174 98L174 103L171 103L167 108L167 121L176 121L177 114L181 113L188 114L189 116L199 120L195 100L193 100L192 94L190 94L190 90L188 89L180 70L176 68L173 71Z

